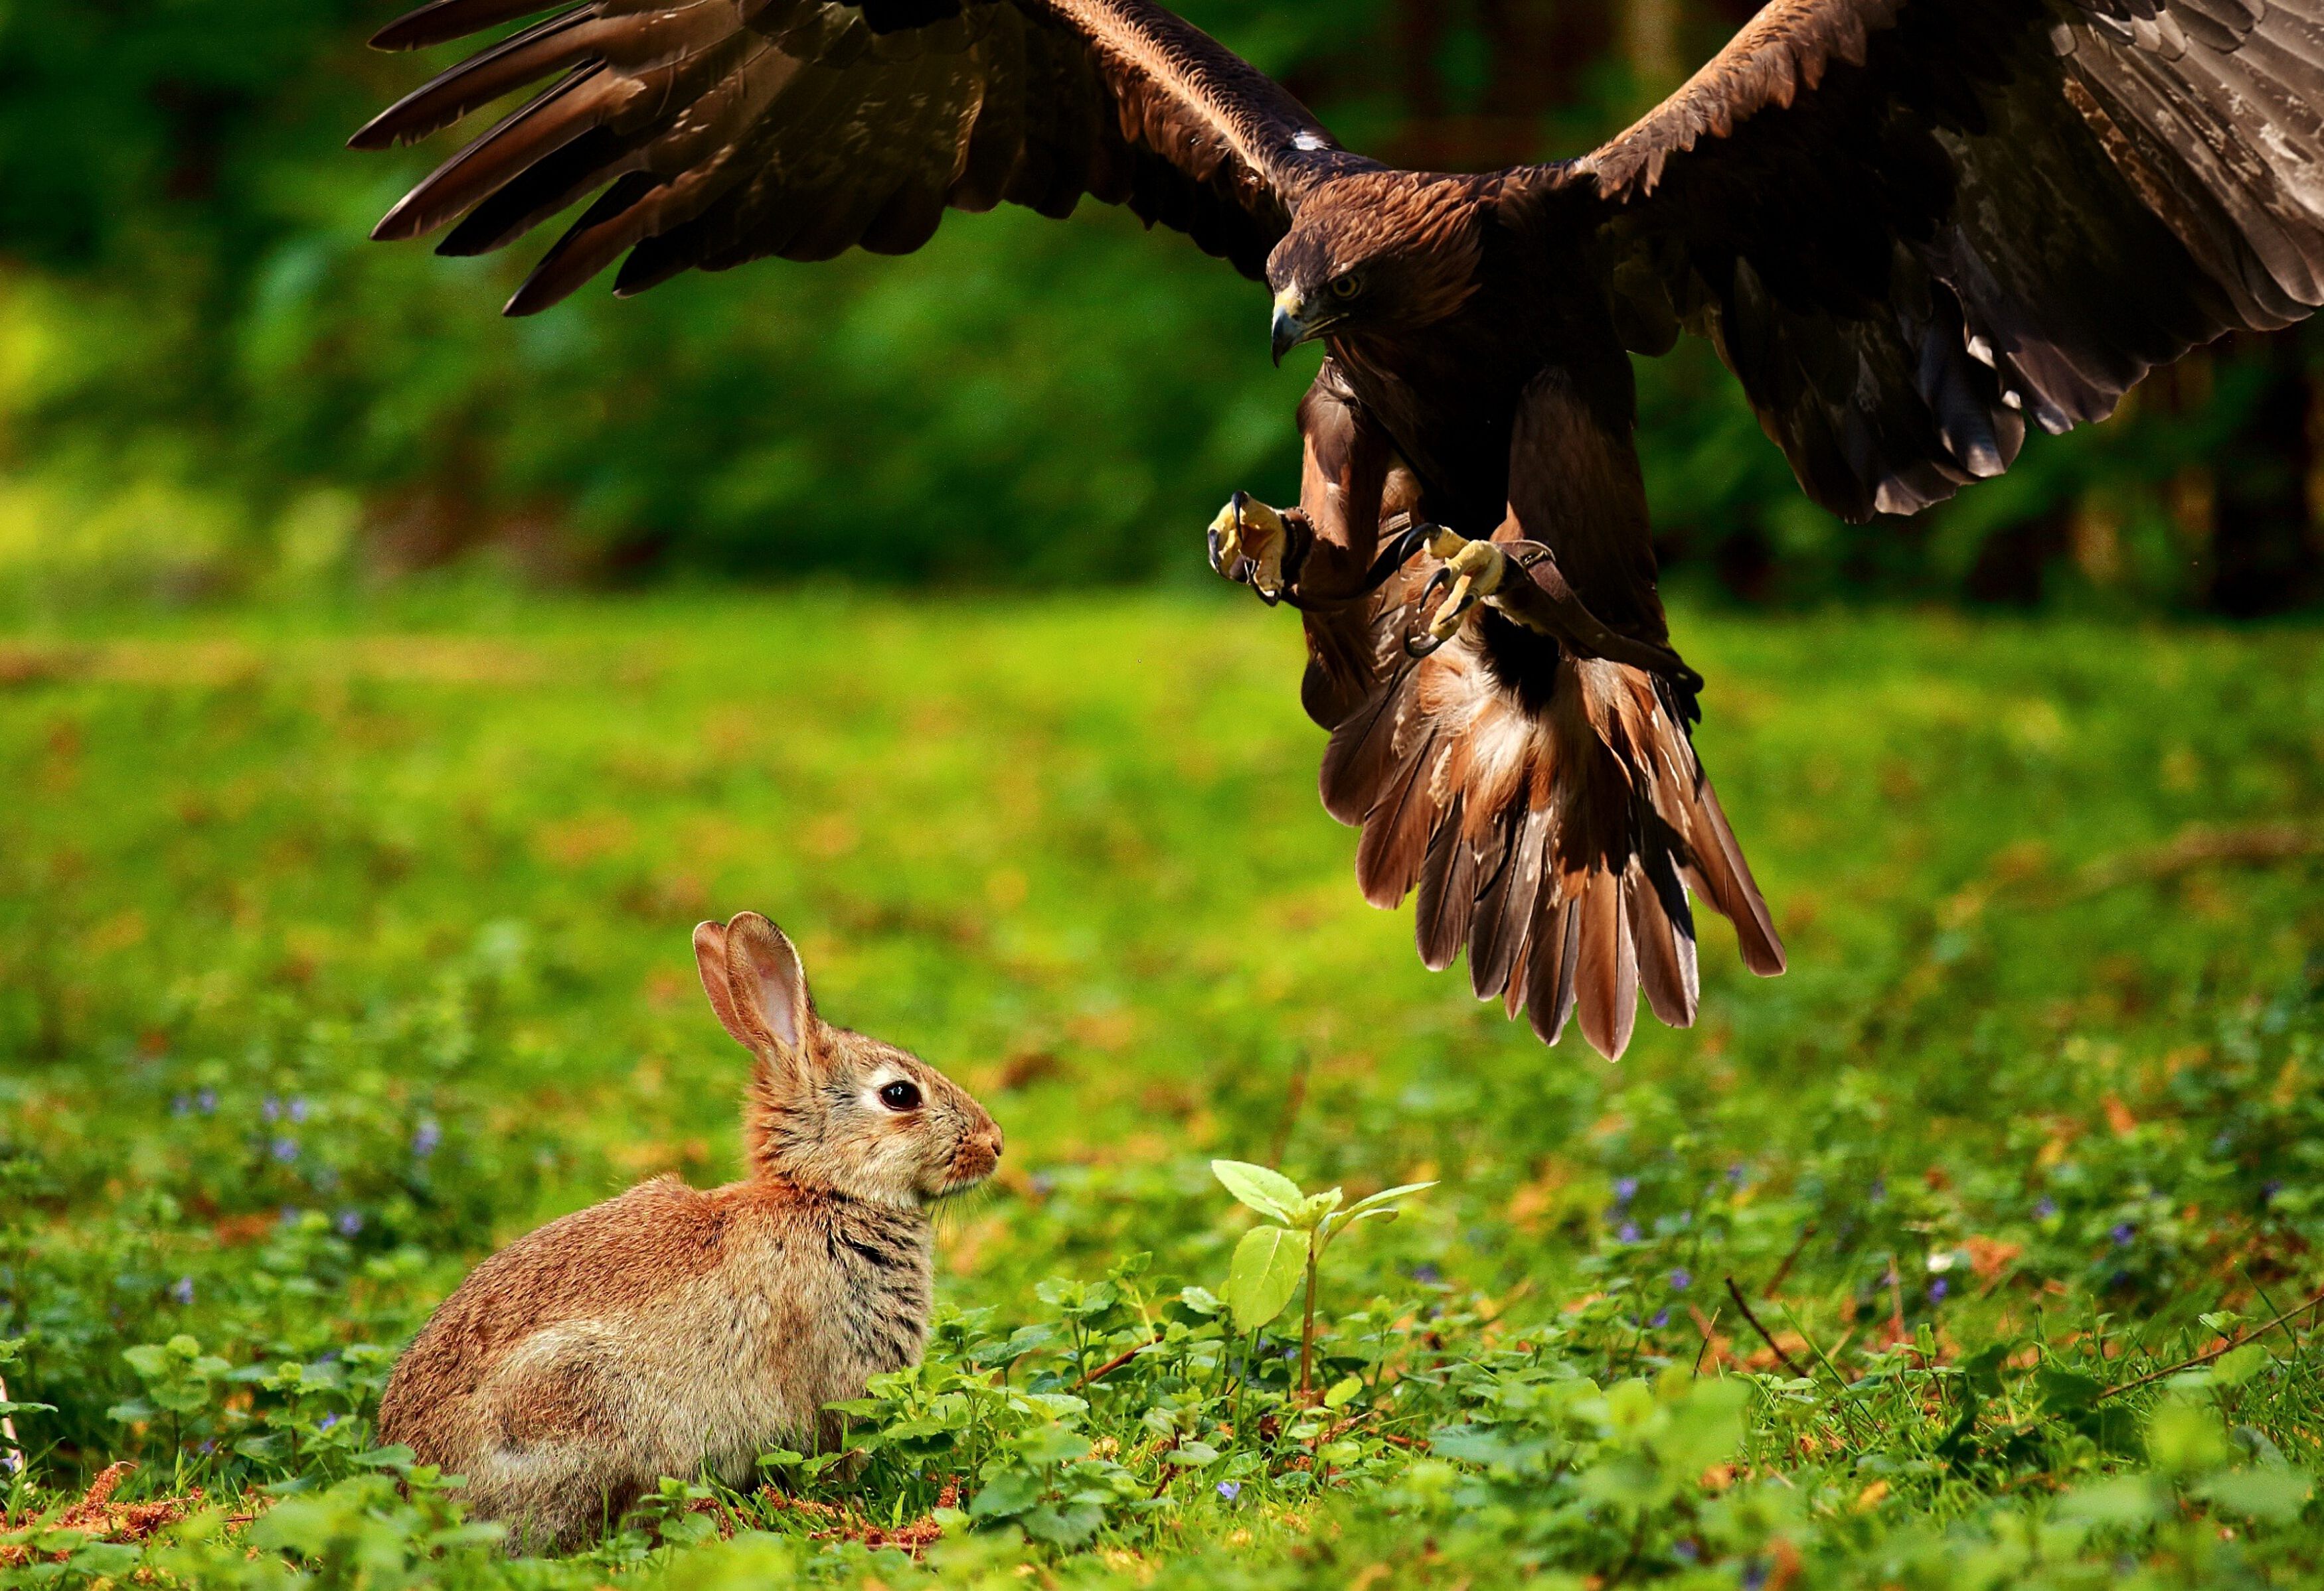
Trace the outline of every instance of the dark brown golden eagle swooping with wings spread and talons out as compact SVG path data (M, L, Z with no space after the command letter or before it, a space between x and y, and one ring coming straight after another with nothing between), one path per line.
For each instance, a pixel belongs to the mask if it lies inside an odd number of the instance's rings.
M416 49L548 9L437 0ZM946 209L1127 204L1325 339L1299 506L1211 562L1306 622L1325 808L1420 957L1613 1057L1697 1008L1690 894L1783 945L1687 727L1629 353L1710 337L1852 520L2008 469L2150 367L2324 302L2324 0L1773 0L1611 144L1506 172L1341 149L1148 0L586 0L356 146L535 98L376 237L486 253L595 195L509 300L909 253Z

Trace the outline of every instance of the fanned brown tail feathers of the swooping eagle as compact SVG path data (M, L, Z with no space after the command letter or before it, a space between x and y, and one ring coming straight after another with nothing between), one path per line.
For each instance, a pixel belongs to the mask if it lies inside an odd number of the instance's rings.
M1494 620L1499 622L1499 620ZM1690 890L1736 924L1745 966L1783 945L1655 676L1557 653L1527 687L1471 625L1420 664L1385 671L1332 734L1325 806L1357 822L1357 878L1376 906L1418 890L1422 964L1469 950L1478 999L1557 1043L1580 1017L1606 1057L1629 1048L1638 994L1671 1027L1701 1001Z

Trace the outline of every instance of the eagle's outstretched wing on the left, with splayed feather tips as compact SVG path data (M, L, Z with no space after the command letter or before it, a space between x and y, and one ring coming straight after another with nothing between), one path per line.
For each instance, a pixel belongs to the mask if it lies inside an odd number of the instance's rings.
M374 42L416 49L541 9L435 0ZM946 207L1062 216L1083 193L1257 276L1299 193L1357 163L1148 0L588 0L416 88L353 144L425 137L544 79L374 232L465 216L439 251L486 253L595 193L509 314L625 251L616 290L637 293L762 255L909 253Z

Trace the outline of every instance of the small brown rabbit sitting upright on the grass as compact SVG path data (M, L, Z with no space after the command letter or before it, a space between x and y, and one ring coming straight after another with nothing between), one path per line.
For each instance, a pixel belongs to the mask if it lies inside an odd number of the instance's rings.
M1002 1131L937 1068L830 1027L758 913L695 929L711 1008L753 1057L748 1175L658 1178L476 1266L421 1329L379 1435L467 1477L518 1545L593 1538L655 1480L741 1484L837 1442L827 1403L920 1356L930 1203L992 1175Z

